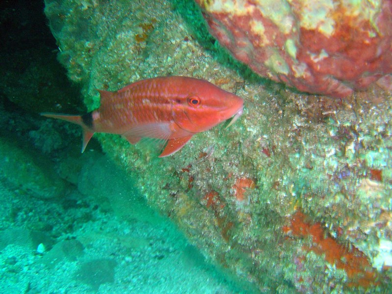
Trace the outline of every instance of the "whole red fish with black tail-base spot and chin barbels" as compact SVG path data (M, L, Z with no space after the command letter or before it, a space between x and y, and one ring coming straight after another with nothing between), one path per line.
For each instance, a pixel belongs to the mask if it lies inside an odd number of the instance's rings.
M159 155L165 157L181 149L196 133L233 117L231 125L243 112L240 97L192 77L156 77L116 92L98 91L99 108L82 116L41 113L80 125L82 152L94 133L112 133L131 144L143 137L167 141Z

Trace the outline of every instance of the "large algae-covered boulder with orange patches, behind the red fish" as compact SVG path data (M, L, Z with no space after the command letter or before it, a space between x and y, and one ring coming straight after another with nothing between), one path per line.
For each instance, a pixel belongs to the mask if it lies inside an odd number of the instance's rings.
M95 89L162 75L204 78L244 98L230 128L199 133L163 159L95 135L206 256L263 292L388 292L391 93L329 99L256 77L207 34L193 1L47 0L45 13L89 110Z

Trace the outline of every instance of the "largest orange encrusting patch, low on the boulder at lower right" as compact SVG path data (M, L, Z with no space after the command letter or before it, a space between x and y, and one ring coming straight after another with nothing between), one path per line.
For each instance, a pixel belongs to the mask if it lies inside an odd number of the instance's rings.
M290 227L284 227L283 232L292 232L295 237L312 237L313 244L310 247L304 246L307 251L311 250L316 254L324 254L325 261L335 265L337 269L342 269L348 277L347 286L368 288L377 285L377 274L368 262L362 251L352 246L348 249L339 244L334 238L328 235L319 222L311 224L305 221L305 215L299 211L294 214Z

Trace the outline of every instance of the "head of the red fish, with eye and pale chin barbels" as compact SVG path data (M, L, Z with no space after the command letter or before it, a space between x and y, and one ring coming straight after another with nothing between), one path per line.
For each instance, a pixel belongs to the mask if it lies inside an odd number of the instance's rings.
M242 114L242 98L224 91L208 81L193 81L186 95L172 100L172 119L183 130L198 133ZM229 125L230 125L229 124Z

